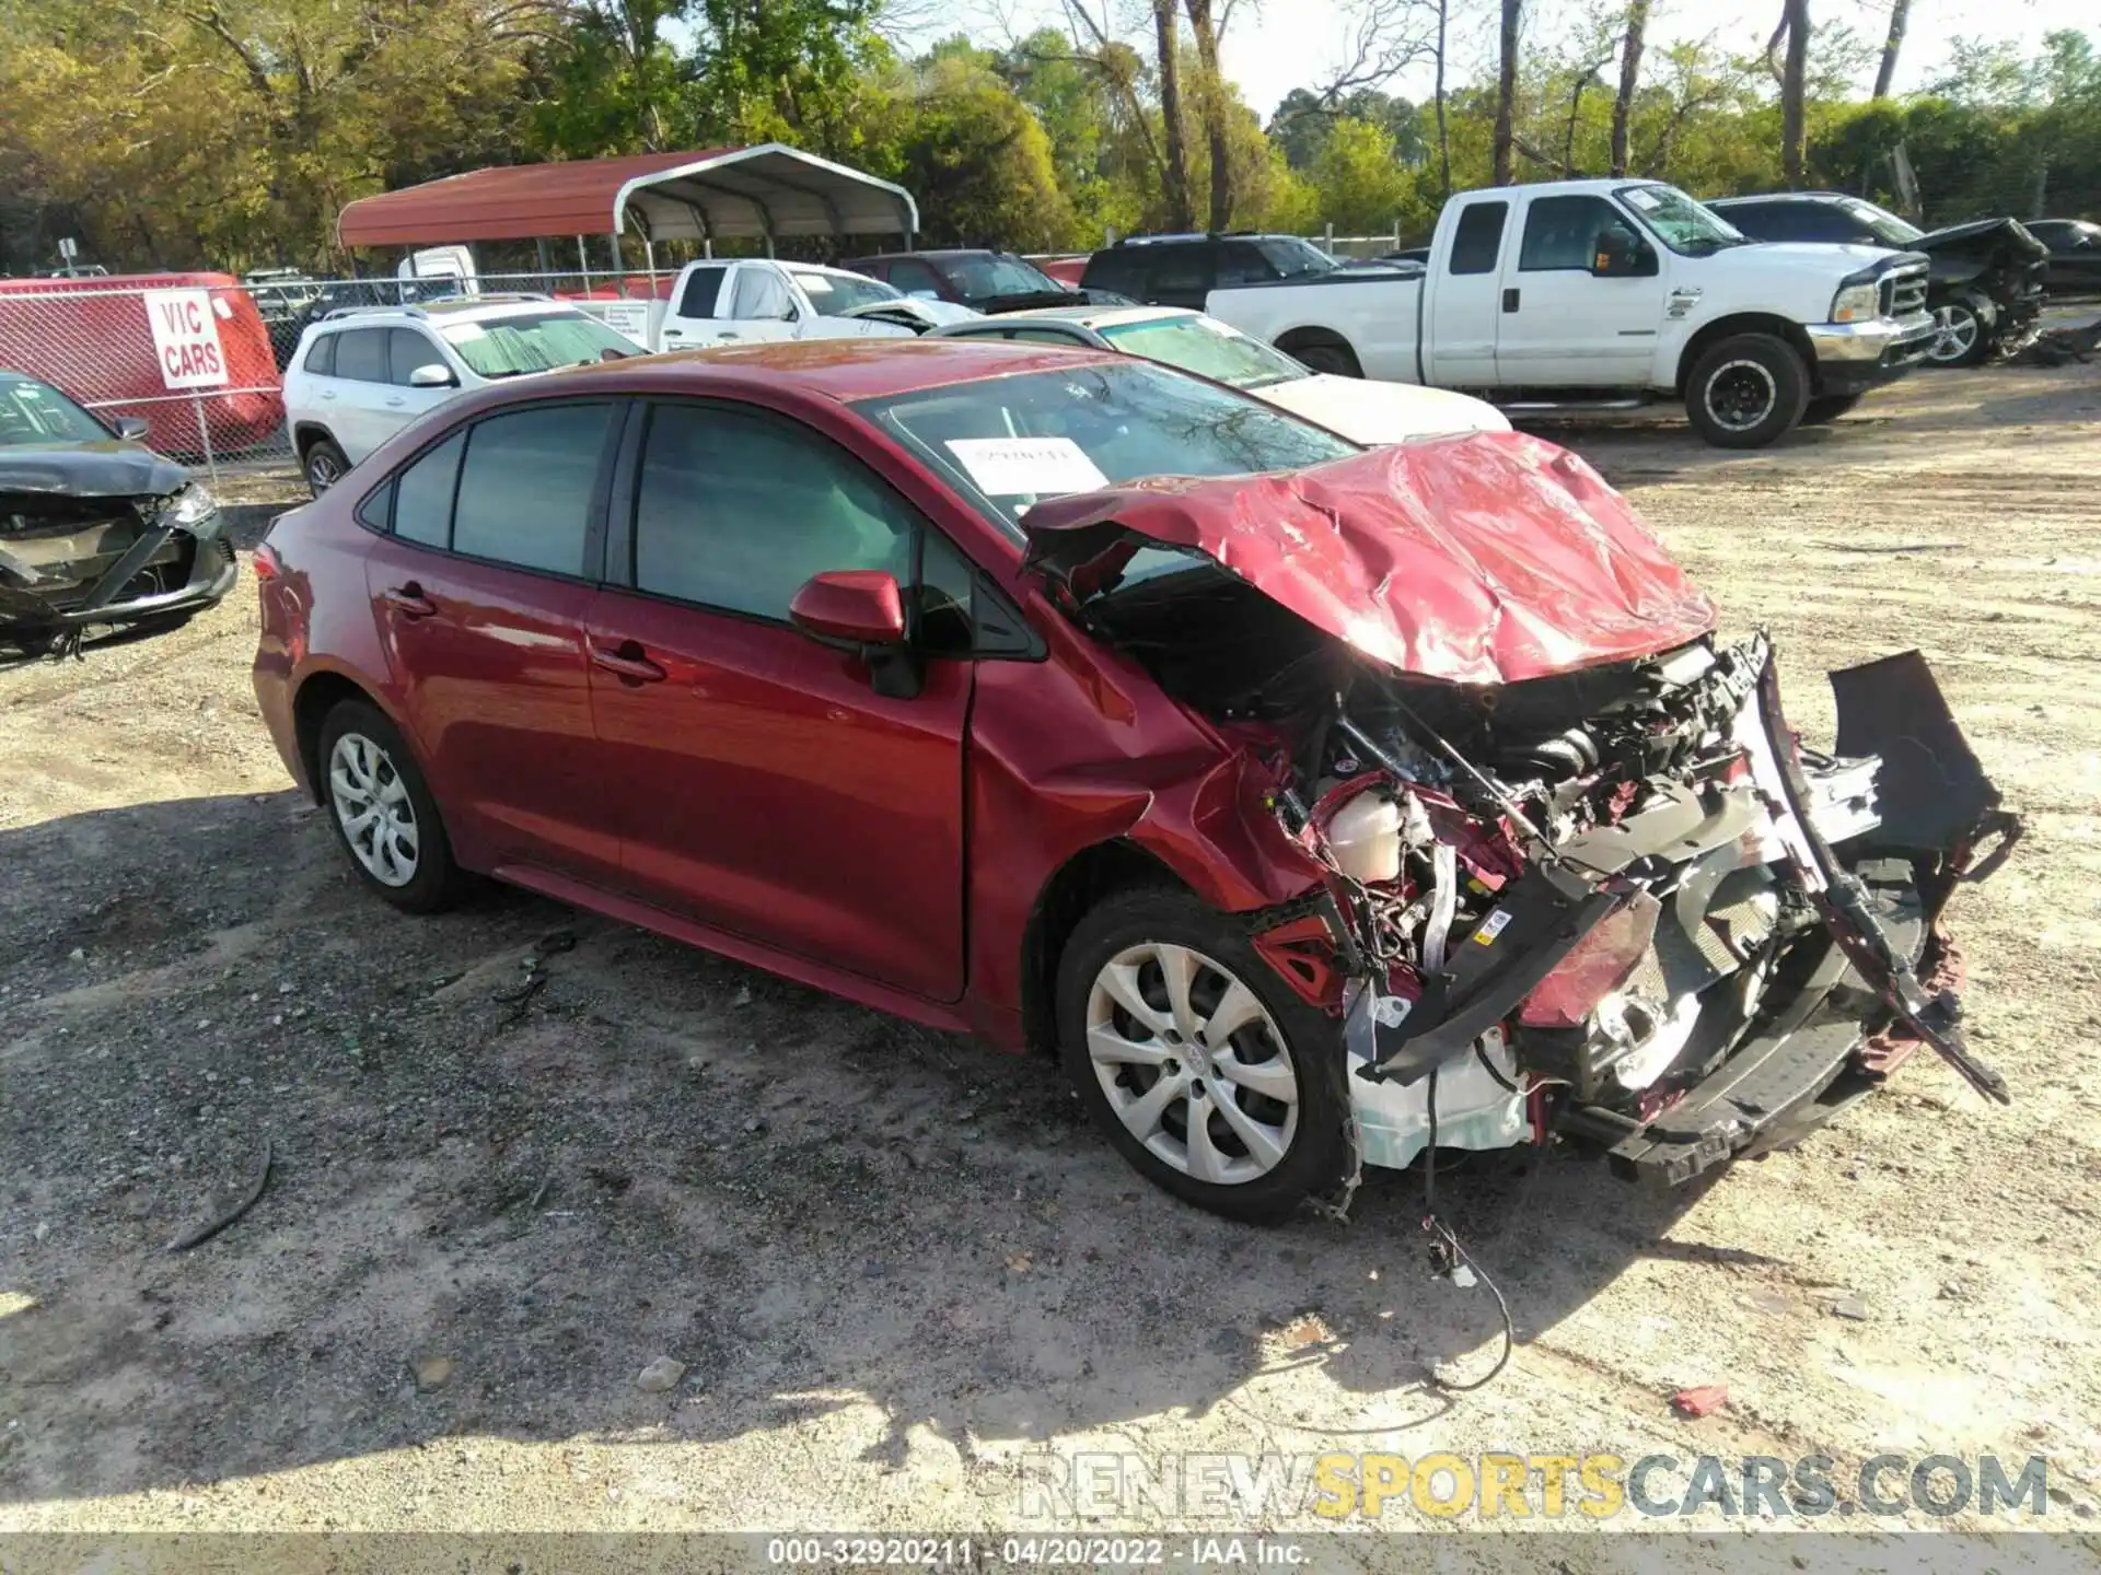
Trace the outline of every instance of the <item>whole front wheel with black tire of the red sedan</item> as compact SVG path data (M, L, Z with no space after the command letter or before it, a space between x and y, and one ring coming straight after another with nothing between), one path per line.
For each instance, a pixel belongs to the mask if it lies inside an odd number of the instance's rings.
M1168 989L1168 966L1181 991ZM1237 1027L1212 1048L1204 1031L1221 1010ZM1065 941L1057 1025L1080 1100L1156 1186L1231 1220L1277 1224L1340 1184L1340 1027L1277 979L1231 916L1168 886L1105 897ZM1168 1077L1185 1092L1149 1102ZM1191 1126L1198 1111L1206 1119ZM1206 1142L1191 1147L1191 1132Z

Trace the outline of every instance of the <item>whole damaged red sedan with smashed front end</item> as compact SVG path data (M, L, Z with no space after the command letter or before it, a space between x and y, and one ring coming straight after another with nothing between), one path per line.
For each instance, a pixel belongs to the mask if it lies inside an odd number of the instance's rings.
M1130 357L819 340L448 403L284 514L256 695L349 861L1055 1050L1250 1220L1429 1144L1681 1182L1916 1046L2015 821L1916 653L1801 746L1582 460Z

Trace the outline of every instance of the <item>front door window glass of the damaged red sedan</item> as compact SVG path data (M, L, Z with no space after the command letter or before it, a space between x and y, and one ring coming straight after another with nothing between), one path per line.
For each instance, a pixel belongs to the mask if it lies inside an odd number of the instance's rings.
M914 510L836 443L779 420L658 405L635 491L635 586L786 622L830 569L912 578Z

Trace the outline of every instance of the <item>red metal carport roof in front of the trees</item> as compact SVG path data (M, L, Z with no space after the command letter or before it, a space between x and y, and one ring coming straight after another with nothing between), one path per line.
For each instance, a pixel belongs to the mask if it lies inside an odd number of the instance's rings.
M336 242L527 242L613 235L630 223L651 239L910 235L918 208L889 181L763 143L469 170L347 204Z

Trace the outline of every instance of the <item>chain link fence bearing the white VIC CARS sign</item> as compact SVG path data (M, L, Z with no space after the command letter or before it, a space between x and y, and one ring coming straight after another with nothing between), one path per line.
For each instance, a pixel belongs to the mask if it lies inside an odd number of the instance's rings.
M496 294L548 296L588 311L592 302L664 298L674 277L0 279L0 370L40 378L109 424L143 422L141 441L214 483L290 479L298 466L284 418L284 370L300 334L321 317Z

